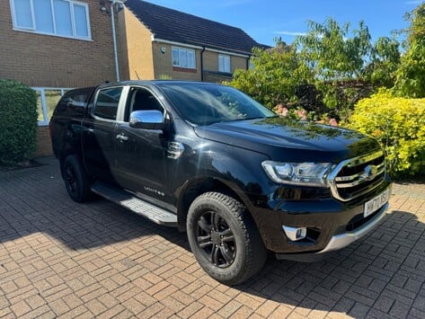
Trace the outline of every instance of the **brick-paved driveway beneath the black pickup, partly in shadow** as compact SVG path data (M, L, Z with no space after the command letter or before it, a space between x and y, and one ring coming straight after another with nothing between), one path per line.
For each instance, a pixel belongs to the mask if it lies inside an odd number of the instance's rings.
M58 164L0 173L0 317L425 317L425 185L394 185L371 235L314 264L268 261L228 288L186 237L105 200L75 204Z

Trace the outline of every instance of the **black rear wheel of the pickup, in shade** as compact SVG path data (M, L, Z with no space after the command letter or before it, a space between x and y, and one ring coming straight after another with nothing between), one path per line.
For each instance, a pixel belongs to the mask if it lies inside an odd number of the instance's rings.
M68 192L71 199L78 203L84 202L88 199L91 193L87 173L76 155L68 155L63 165L63 176Z

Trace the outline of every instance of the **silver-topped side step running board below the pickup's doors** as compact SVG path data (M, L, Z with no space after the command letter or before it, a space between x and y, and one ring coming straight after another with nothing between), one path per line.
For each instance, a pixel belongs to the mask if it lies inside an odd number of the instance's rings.
M128 191L111 187L102 182L95 182L92 186L92 191L124 208L130 209L138 215L149 218L156 224L177 226L177 216L175 214L163 208L158 208L142 199L138 199Z

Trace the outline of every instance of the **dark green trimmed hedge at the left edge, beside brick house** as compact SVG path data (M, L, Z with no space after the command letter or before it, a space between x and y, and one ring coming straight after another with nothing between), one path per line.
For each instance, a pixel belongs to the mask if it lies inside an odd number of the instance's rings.
M26 84L0 79L0 164L28 159L36 148L37 95Z

